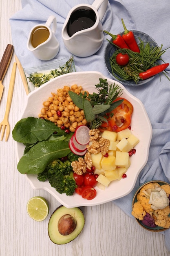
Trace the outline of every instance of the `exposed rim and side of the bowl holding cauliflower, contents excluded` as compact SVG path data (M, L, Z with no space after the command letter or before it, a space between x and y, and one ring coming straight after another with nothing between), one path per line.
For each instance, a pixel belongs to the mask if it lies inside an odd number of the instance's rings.
M160 186L164 185L164 184L168 184L170 186L169 183L165 182L165 181L162 181L162 180L151 180L149 182L145 182L144 184L142 184L141 186L139 186L139 188L137 189L134 197L133 197L133 200L132 200L132 208L133 208L133 205L135 204L135 202L137 202L137 194L139 193L139 191L141 190L141 188L143 186L145 186L146 184L149 184L149 183L153 183L153 182L157 182ZM134 217L135 218L135 217ZM147 227L146 225L144 225L141 220L138 220L137 218L135 218L135 220L137 221L137 223L143 227L144 229L147 229L148 231L153 231L153 232L161 232L161 231L165 231L166 229L168 228L163 228L163 227Z

